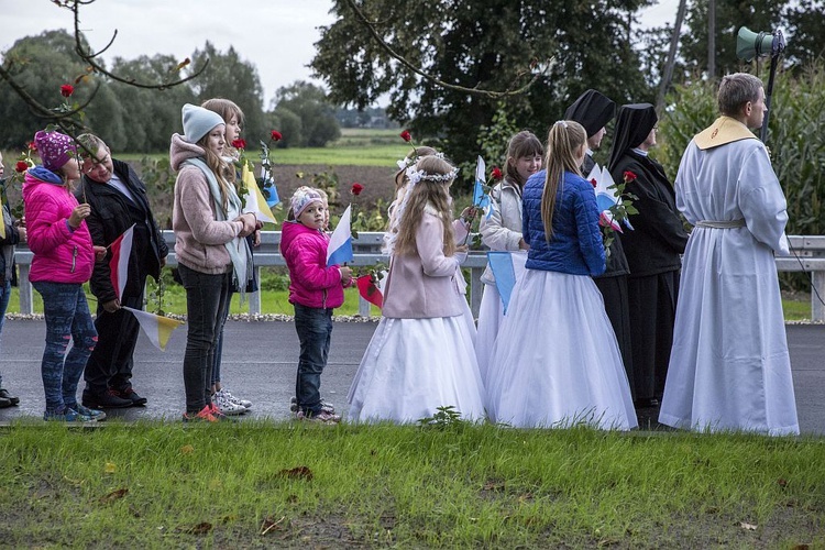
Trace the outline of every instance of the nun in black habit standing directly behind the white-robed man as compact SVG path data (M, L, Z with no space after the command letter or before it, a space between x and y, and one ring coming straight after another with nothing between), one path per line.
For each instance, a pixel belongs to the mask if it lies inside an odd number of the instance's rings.
M648 152L656 145L656 109L650 103L619 109L608 169L616 183L629 179L637 197L632 231L619 233L627 264L632 375L638 407L658 406L664 392L679 295L680 254L688 232L675 205L673 185Z

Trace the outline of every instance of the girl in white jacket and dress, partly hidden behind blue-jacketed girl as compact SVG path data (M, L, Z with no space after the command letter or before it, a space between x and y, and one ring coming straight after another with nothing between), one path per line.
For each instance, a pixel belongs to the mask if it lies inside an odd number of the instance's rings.
M521 238L521 189L527 178L541 169L543 154L544 147L532 132L524 131L510 138L504 179L490 193L490 216L482 216L479 226L482 242L490 250L526 254L529 246ZM493 351L498 327L504 318L504 307L490 265L484 270L481 280L484 283L484 293L479 309L475 355L482 380L485 380L490 352Z

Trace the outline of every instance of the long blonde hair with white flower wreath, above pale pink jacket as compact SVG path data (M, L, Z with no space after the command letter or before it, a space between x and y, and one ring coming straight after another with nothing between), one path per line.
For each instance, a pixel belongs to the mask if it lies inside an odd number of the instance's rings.
M444 255L455 253L455 239L452 230L452 200L450 185L455 179L455 167L438 156L422 156L410 168L410 187L407 190L407 205L398 226L395 250L399 254L416 252L416 230L425 209L430 206L437 212L444 228Z

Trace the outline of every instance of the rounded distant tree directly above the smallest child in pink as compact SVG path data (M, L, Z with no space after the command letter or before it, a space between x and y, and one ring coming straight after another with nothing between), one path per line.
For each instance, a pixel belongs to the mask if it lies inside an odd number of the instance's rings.
M340 138L341 128L336 120L336 110L322 88L298 80L278 88L273 102L273 113L280 122L286 141L283 146L322 147ZM287 141L288 132L296 130L288 129L287 124L294 124L296 117L300 121L299 131Z

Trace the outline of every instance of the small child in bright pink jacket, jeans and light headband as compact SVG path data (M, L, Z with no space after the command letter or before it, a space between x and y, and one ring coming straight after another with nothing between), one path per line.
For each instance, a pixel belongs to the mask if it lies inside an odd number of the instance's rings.
M329 238L323 232L323 198L299 187L290 199L294 220L284 222L280 254L289 270L289 302L295 307L295 330L300 341L295 382L296 415L336 424L341 417L323 408L321 373L327 366L332 334L332 310L343 304L343 287L352 284L352 270L327 266Z

